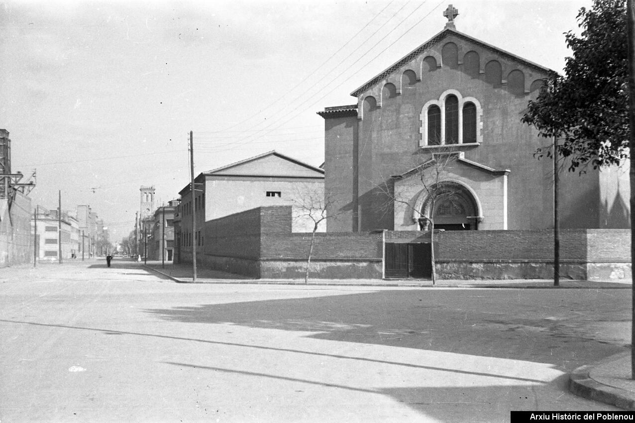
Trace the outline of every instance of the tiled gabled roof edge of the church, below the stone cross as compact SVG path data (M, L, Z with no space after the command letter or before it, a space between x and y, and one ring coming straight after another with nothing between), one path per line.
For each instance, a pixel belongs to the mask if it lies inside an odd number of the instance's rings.
M556 73L554 70L551 70L551 69L546 68L544 66L541 66L541 65L535 64L533 62L530 62L529 60L526 60L526 59L524 59L522 57L516 56L516 55L514 55L512 53L509 53L508 51L502 50L502 49L500 49L498 47L492 46L491 44L484 43L483 41L481 41L479 39L471 37L471 36L469 36L467 34L464 34L462 32L458 32L456 29L452 29L452 28L447 28L446 27L444 30L442 30L441 32L436 34L436 36L432 37L431 39L426 41L424 44L421 44L420 46L415 48L415 50L413 50L410 53L408 53L408 55L406 55L403 58L401 58L400 60L398 60L398 62L393 64L391 67L385 69L384 72L381 72L380 74L375 76L373 79L371 79L367 83L365 83L362 86L360 86L357 90L353 91L351 93L351 95L353 97L359 97L359 95L361 93L363 93L364 91L368 90L368 88L370 88L371 86L373 86L373 85L377 84L378 82L382 81L382 79L385 79L385 77L387 77L390 74L392 74L392 72L395 72L396 70L399 70L399 68L401 68L403 65L407 64L408 62L410 62L410 60L412 60L413 58L417 57L418 55L424 53L426 50L431 48L434 44L439 43L439 41L441 41L442 39L444 39L445 37L448 37L448 36L455 36L455 37L458 37L458 38L463 39L465 41L469 41L470 43L474 43L474 44L476 44L478 46L481 46L481 47L486 48L488 50L494 51L495 53L497 53L498 55L501 55L502 57L506 57L506 58L515 60L516 62L520 62L521 64L523 64L523 65L525 65L527 67L530 67L531 69L535 69L535 70L538 70L540 72L545 72L547 74L555 74Z

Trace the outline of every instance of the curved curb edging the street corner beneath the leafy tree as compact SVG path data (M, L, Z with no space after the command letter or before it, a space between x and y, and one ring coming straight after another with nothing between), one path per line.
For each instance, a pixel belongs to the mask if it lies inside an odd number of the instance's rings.
M589 377L594 366L578 367L569 375L569 391L588 400L618 406L624 410L635 410L635 399L622 389L601 384Z

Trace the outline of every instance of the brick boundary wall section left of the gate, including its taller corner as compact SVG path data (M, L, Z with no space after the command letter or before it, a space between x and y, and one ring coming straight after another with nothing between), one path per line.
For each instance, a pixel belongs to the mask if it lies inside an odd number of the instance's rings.
M259 207L209 220L197 261L255 278L304 278L311 232L291 232L291 209ZM382 253L381 232L316 232L309 277L380 279ZM183 259L191 262L191 250Z

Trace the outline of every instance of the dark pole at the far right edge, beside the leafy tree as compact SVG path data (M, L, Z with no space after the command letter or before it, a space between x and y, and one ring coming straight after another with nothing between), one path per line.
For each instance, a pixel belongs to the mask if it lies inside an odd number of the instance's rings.
M635 3L634 0L626 0L627 34L629 48L629 149L635 151ZM635 154L631 154L631 240L635 236ZM635 243L631 242L631 263L635 260ZM632 291L631 302L632 317L635 321L635 290ZM635 379L635 325L631 325L631 379Z

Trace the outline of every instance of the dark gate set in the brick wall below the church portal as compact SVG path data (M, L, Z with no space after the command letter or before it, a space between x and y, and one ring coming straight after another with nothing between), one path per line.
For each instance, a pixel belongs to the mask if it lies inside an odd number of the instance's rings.
M430 244L386 243L386 278L432 278Z

